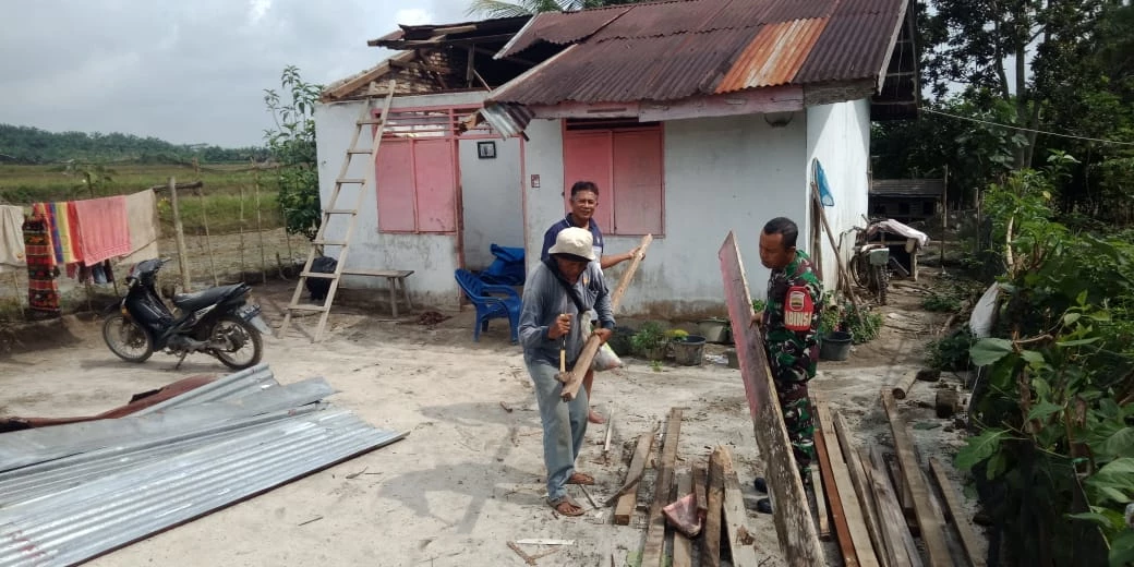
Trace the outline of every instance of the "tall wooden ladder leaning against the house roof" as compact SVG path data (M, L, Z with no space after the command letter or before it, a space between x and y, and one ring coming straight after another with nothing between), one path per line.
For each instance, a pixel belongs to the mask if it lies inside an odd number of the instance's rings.
M371 111L373 110L373 99L366 99L366 103L363 105L362 112L358 115L358 119L355 120L355 133L354 137L350 138L350 145L346 151L346 159L342 160L342 167L339 169L339 175L335 179L335 191L331 192L331 198L327 201L327 205L323 209L322 222L319 225L319 231L315 234L315 238L311 240L311 251L307 253L307 262L303 265L303 271L299 272L299 282L295 286L295 294L291 295L291 303L287 306L287 313L284 315L284 324L280 325L278 337L282 338L287 335L288 325L291 323L291 315L297 312L318 312L319 327L315 328L315 333L312 336L311 341L318 342L322 339L323 329L327 328L327 319L331 314L331 303L335 301L335 293L339 288L339 279L344 274L344 270L347 263L347 251L350 245L350 237L354 235L355 225L358 220L358 209L362 206L363 197L366 195L366 187L373 186L369 183L374 178L375 164L378 160L378 147L382 142L382 134L386 132L386 120L390 113L390 103L393 100L393 88L395 82L390 79L389 92L386 94L386 100L382 102L382 112L379 118L373 118ZM373 137L371 137L370 147L358 147L358 139L362 137L362 132L364 128L376 126ZM365 166L365 175L361 179L347 178L347 174L350 170L350 160L355 155L369 155L370 160ZM354 206L350 209L338 209L339 194L344 185L356 185L358 187L357 195L355 196ZM329 240L327 239L327 227L330 225L330 220L336 215L348 215L347 230L341 240ZM341 251L339 252L338 262L335 266L335 271L331 273L320 273L312 272L311 265L315 261L316 253L321 246L339 246ZM319 278L331 280L331 286L327 290L327 298L323 301L322 305L314 304L301 304L299 297L303 295L303 290L306 287L307 278Z

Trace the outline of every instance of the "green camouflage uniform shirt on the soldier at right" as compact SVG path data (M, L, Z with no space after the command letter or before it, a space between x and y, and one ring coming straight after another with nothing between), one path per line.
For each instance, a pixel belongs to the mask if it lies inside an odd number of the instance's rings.
M793 331L785 327L784 302L788 289L802 286L811 295L814 311L811 330ZM823 284L811 269L811 257L796 251L795 260L782 270L772 270L768 278L768 303L764 307L764 346L768 364L776 381L803 382L815 376L819 361L819 319L822 310Z

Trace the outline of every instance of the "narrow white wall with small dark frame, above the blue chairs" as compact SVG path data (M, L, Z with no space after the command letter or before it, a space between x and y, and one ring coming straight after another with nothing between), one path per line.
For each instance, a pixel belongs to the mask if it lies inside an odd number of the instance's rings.
M483 270L496 260L491 245L524 247L519 138L494 139L496 159L480 159L477 139L463 139L460 187L465 212L465 266Z

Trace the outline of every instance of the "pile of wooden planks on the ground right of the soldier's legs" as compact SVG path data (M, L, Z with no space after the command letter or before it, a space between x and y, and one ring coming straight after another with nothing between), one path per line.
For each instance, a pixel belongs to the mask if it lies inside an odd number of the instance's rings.
M833 525L845 565L984 565L976 533L960 509L956 486L940 464L930 458L926 465L938 484L934 490L891 391L882 391L881 403L894 434L892 460L887 460L877 445L856 446L843 416L831 411L814 388L812 401L818 420L815 449L822 472L815 496L820 502L826 499L826 506L819 507L820 538L830 538ZM943 506L939 494L943 497ZM829 523L823 509L830 510ZM921 540L920 547L915 535Z

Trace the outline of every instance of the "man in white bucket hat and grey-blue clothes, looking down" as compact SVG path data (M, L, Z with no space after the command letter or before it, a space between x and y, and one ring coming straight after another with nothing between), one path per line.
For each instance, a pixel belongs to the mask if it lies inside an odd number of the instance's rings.
M610 290L595 259L591 232L572 227L556 236L547 260L527 276L519 314L519 342L524 363L535 384L543 424L543 464L548 469L548 503L564 516L579 516L583 508L567 494L567 484L594 484L575 471L587 423L587 396L582 389L572 401L562 400L562 383L556 380L560 350L572 370L586 342L581 319L589 311L599 316L593 335L602 342L615 328Z

